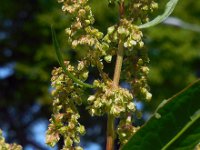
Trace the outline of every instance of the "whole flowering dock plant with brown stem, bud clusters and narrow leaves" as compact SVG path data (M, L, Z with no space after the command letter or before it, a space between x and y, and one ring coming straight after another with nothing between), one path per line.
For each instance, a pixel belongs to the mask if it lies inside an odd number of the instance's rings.
M106 34L94 27L95 18L89 0L58 2L73 20L71 26L65 29L67 42L72 49L84 51L84 56L77 65L64 61L52 29L61 67L52 71L53 114L46 142L54 146L62 136L63 149L82 149L79 146L80 136L86 131L78 121L81 116L77 106L83 104L85 88L93 88L95 93L91 93L84 104L91 116L107 115L106 149L114 149L115 138L123 146L139 129L133 125L133 115L137 112L133 100L150 101L152 97L147 84L148 51L144 47L141 29L162 22L172 12L177 0L171 0L165 13L150 22L148 15L158 7L155 1L109 0L108 6L118 7L119 19L108 27ZM116 65L111 79L103 69L105 63L110 63L113 57L116 57ZM95 79L93 84L85 83L89 67L97 68L101 77ZM130 89L120 87L120 81L130 84ZM120 120L118 125L114 124L116 118Z

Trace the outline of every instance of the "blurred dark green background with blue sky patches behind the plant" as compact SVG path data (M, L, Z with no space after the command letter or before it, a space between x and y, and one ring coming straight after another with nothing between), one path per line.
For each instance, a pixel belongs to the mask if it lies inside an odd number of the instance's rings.
M161 1L152 17L163 12L166 2ZM116 22L116 11L107 7L107 0L91 4L95 26L106 31ZM52 110L50 75L58 66L51 24L65 50L65 59L73 61L77 55L66 46L64 29L69 19L60 8L56 0L0 1L0 128L7 142L19 143L25 150L50 149L44 144L44 136ZM145 29L144 35L151 60L153 99L148 104L138 103L144 112L140 124L163 99L200 77L200 1L180 0L168 20ZM83 108L80 112L81 122L87 127L81 144L101 149L105 145L106 118L91 119Z

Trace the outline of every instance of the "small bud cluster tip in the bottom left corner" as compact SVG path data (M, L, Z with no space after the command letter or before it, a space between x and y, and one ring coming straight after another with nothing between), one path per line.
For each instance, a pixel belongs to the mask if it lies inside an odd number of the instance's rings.
M5 142L5 139L2 135L2 131L0 130L0 149L2 150L22 150L22 147L17 144L8 144Z

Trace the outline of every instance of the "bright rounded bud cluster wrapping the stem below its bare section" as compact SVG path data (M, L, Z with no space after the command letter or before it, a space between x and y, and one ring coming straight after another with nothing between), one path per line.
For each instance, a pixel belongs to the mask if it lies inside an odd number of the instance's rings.
M88 98L88 109L92 116L109 114L120 118L127 112L135 111L133 96L128 90L121 87L113 88L109 81L106 84L97 80L94 82L98 89Z

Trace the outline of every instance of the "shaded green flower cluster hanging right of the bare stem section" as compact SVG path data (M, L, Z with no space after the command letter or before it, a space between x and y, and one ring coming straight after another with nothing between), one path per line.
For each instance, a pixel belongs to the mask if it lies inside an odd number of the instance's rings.
M152 98L147 83L148 63L149 58L145 48L136 47L133 52L126 53L122 78L131 85L131 93L136 100L150 101Z

